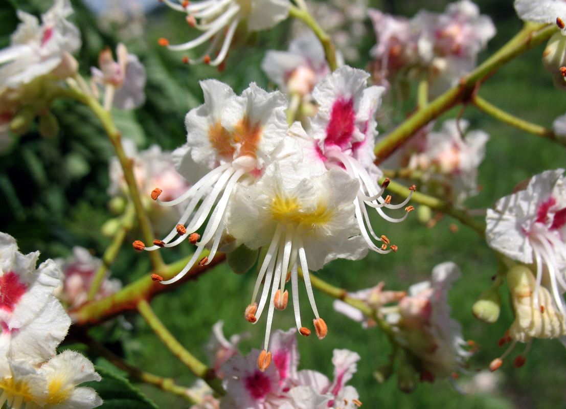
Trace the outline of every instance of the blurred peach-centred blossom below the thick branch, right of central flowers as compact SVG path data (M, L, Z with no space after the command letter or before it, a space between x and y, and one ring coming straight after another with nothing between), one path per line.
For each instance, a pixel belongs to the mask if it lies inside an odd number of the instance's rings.
M478 193L478 167L489 140L486 132L466 132L469 124L465 119L445 121L438 132L424 136L423 152L411 156L408 164L409 169L424 171L431 183L443 184L457 205Z

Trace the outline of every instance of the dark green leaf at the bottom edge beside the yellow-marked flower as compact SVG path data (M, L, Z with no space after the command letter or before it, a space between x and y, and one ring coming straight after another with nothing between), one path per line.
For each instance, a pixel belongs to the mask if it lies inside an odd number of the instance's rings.
M160 409L126 378L97 367L96 371L102 376L100 382L86 382L84 386L95 389L104 401L101 409Z

